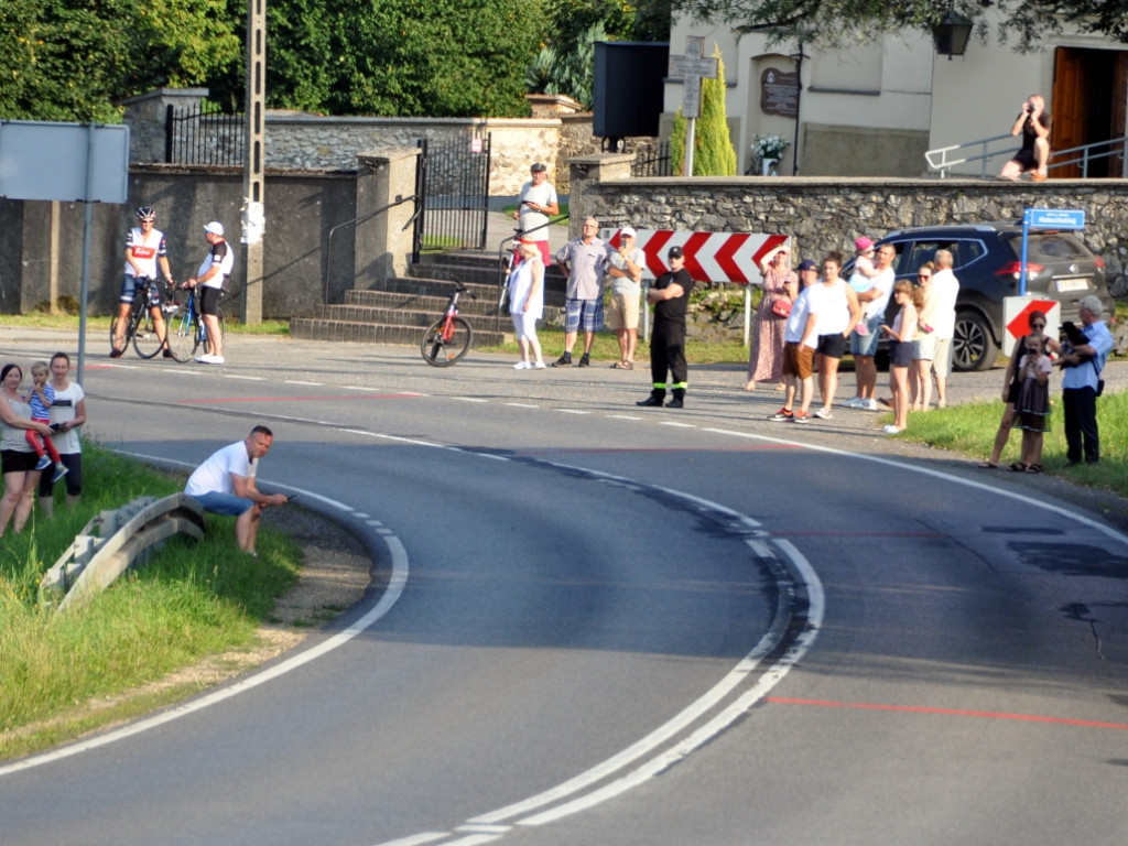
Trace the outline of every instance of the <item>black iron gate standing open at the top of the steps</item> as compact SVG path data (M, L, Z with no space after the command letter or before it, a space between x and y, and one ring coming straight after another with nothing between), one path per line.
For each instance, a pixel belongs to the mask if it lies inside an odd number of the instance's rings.
M452 141L418 140L412 261L425 249L484 249L490 212L490 140L473 135Z

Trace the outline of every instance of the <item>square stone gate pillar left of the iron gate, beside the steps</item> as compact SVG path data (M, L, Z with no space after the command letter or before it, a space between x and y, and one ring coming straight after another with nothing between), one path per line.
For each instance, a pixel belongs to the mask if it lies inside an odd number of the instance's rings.
M407 272L413 228L404 227L415 211L418 155L415 147L386 147L356 156L355 288L379 288ZM399 199L408 202L378 213Z

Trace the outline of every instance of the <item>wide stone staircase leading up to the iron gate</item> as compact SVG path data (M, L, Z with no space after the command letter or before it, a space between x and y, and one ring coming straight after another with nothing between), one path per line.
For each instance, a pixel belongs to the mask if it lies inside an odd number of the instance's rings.
M389 279L382 290L353 289L343 303L319 306L312 317L290 318L290 334L306 341L415 345L423 329L442 316L457 280L469 289L458 309L474 329L473 345L496 346L513 335L508 309L497 315L497 279L496 255L426 254L407 276ZM563 323L565 282L557 268L548 270L545 323Z

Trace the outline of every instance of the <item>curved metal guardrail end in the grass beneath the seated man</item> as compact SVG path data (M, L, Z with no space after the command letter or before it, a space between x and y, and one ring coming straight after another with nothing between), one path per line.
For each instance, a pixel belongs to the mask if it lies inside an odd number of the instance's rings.
M142 496L116 511L103 511L43 576L39 602L65 610L100 593L176 534L196 540L204 534L203 508L183 492L162 500Z

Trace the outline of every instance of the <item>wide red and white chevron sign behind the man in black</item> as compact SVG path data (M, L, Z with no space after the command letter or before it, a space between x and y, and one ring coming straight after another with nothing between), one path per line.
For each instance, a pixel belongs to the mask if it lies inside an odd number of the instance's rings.
M602 237L616 249L619 229L605 230ZM643 276L658 279L670 270L667 258L670 247L681 247L686 270L695 282L737 282L764 284L760 261L779 245L791 249L785 235L749 235L747 232L687 232L672 229L640 229L635 246L646 257Z

